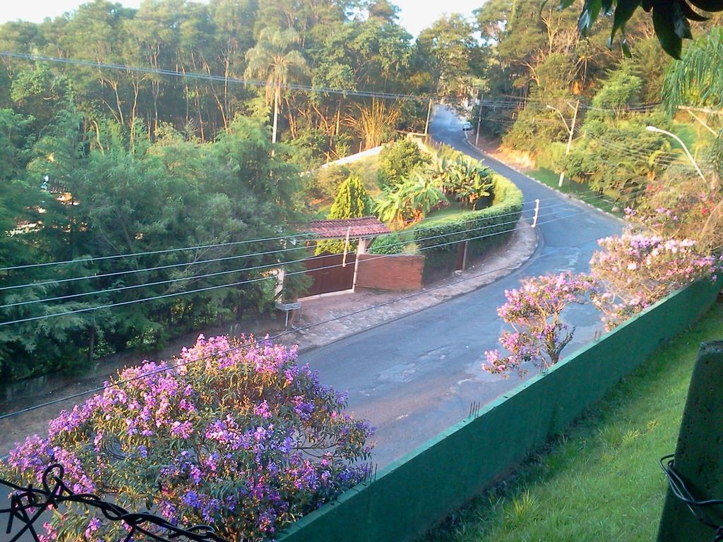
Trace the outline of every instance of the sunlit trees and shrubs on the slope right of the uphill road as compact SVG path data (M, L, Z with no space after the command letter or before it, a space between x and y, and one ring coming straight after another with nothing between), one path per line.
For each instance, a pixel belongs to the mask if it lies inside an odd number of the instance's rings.
M555 4L540 9L534 0L490 0L476 12L489 58L482 69L483 134L501 137L505 150L523 153L526 163L564 171L591 191L619 200L620 208L637 205L646 184L669 168L677 168L681 178L695 174L674 139L646 132L646 126L682 135L700 158L716 135L721 141L720 119L710 109L688 108L690 116L670 117L677 106L718 107L715 25L721 15L690 27L681 21L677 30L690 31L696 40L683 49L683 61L673 61L660 51L656 33L661 37L683 17L676 11L683 9L682 1L643 3L653 7L652 18L637 9L643 5L637 1L586 1L579 20L574 9L558 10ZM616 13L614 33L624 30L630 58L608 48L605 25L591 25L607 8ZM661 98L667 111L658 105ZM478 113L476 108L473 114Z

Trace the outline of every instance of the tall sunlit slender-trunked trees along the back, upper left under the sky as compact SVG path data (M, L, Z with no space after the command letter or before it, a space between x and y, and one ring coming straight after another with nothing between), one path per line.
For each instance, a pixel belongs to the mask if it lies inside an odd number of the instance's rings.
M455 54L471 59L479 48L472 28L442 20L423 45L398 24L396 11L373 0L153 0L139 9L93 0L42 24L0 25L0 49L194 77L6 58L0 108L32 113L40 132L72 100L90 118L110 116L129 132L138 127L155 138L168 123L202 141L239 113L259 114L278 125L280 140L306 139L315 160L343 156L360 142L378 145L380 134L380 142L387 141L395 128L419 129L427 109L426 103L354 92L466 91L429 77L430 62L446 69L449 51L441 43L429 51L429 39L454 33ZM458 78L469 78L469 64L459 69ZM252 82L239 84L241 79ZM328 88L349 94L326 93Z

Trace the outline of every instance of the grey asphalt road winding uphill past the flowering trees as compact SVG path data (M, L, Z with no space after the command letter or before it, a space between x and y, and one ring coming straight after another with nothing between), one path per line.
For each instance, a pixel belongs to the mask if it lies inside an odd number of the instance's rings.
M497 348L502 322L496 309L505 289L521 277L546 272L588 270L596 239L617 233L620 220L570 201L557 192L483 155L466 142L461 121L437 108L430 126L437 141L451 145L510 178L526 202L541 199L539 247L523 267L507 278L464 296L395 320L301 356L320 371L320 379L348 391L348 408L377 428L373 461L380 467L411 452L469 414L473 401L482 404L519 384L482 371L484 350ZM531 205L525 215L531 216ZM601 330L592 306L572 306L566 313L576 326L573 353Z

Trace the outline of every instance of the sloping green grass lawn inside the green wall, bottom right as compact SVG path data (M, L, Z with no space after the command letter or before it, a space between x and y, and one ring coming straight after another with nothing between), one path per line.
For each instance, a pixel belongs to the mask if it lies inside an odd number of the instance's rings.
M721 337L723 306L716 304L515 478L425 541L654 541L667 487L657 461L675 450L701 341Z

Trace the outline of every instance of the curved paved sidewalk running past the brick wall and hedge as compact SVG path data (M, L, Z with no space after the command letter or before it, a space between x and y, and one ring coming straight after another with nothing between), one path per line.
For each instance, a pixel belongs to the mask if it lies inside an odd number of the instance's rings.
M534 254L536 247L535 231L529 223L521 220L505 245L485 254L465 272L455 272L453 276L427 285L421 291L361 290L303 301L301 314L294 319L294 327L303 328L331 319L333 322L301 329L286 335L281 342L299 344L301 351L311 350L427 309L509 275ZM344 317L345 314L349 316Z

